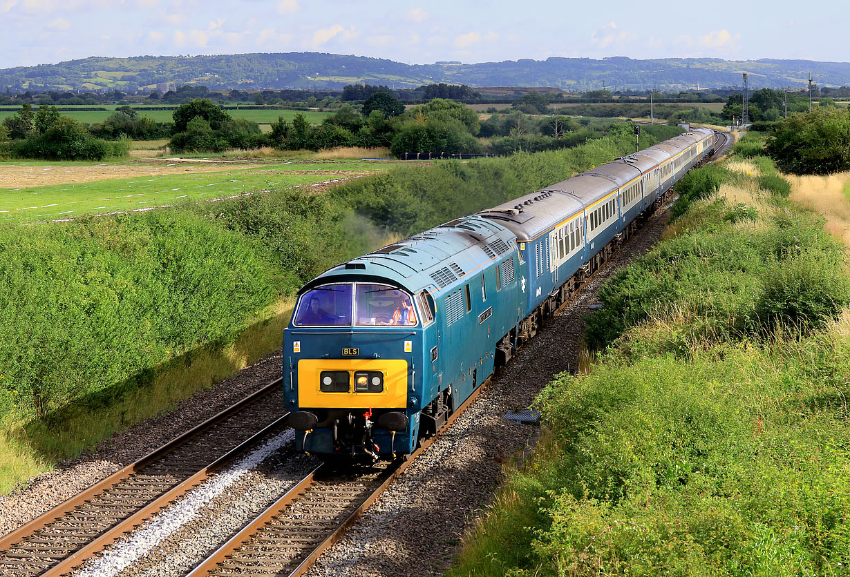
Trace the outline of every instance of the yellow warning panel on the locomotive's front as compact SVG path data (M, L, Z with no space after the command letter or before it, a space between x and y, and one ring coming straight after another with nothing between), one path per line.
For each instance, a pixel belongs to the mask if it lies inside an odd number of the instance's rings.
M347 371L348 393L326 393L322 371ZM382 393L355 393L354 373L383 373ZM407 406L407 361L400 359L301 359L298 361L298 406L314 408L404 409Z

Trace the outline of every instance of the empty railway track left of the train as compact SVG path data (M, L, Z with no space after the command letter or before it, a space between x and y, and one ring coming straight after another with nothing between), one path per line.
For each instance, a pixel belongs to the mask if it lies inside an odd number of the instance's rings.
M286 428L281 379L0 539L0 574L59 575Z

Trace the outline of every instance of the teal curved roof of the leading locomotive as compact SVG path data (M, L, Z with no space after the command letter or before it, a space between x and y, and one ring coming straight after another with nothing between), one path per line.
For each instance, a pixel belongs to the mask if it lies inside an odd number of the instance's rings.
M489 260L501 260L516 237L505 227L479 216L464 216L439 227L388 244L368 255L323 272L301 292L332 282L382 282L411 293L436 294L466 282Z

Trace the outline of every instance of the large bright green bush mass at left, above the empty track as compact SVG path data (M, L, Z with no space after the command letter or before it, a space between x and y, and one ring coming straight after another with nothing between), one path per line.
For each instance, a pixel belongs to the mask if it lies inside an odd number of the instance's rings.
M0 390L39 415L229 341L275 294L255 244L178 210L5 225L0 239Z

